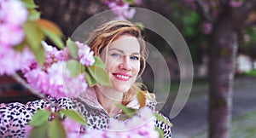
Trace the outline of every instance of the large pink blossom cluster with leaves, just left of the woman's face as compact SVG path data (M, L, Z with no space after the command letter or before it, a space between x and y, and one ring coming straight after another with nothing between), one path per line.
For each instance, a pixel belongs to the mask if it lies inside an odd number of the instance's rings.
M93 51L82 43L76 42L78 45L77 60L82 65L91 66L94 64ZM67 61L71 60L70 52L67 47L58 50L55 47L43 42L46 51L44 66L38 66L35 61L28 70L25 70L25 78L27 82L45 95L50 95L56 99L60 97L77 97L81 92L87 89L87 83L84 73L76 77L71 76L71 72L67 68Z

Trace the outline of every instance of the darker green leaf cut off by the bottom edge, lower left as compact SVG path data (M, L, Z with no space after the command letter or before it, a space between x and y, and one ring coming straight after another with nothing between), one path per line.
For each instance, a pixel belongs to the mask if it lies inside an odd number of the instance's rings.
M29 138L47 138L48 127L48 122L44 122L44 124L33 127L32 131L30 132Z

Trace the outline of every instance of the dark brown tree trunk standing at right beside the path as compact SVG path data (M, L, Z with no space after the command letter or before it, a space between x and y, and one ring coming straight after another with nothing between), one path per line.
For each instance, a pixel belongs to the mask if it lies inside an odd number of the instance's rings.
M209 65L209 138L229 138L238 38L232 10L224 9L213 27Z

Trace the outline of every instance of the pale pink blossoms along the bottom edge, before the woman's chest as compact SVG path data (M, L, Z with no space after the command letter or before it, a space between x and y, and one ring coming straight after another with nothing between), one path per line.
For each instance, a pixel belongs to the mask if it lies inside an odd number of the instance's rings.
M102 131L99 129L86 128L83 133L79 133L80 126L71 119L64 120L64 128L67 131L67 137L78 138L94 138L94 137L108 137L108 138L155 138L160 137L155 130L153 112L148 107L143 107L138 114L125 121L112 119L109 122L109 128Z

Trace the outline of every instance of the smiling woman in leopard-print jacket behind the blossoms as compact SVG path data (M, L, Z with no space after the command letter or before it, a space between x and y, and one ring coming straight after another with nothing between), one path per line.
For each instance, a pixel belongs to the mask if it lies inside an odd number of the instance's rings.
M96 85L78 98L52 101L62 108L81 112L92 128L107 129L109 119L120 117L120 109L116 104L140 108L136 97L137 89L141 86L135 81L145 68L146 45L137 26L127 20L113 20L99 26L85 43L106 64L113 86ZM144 94L147 97L146 106L154 111L154 96L148 92ZM10 103L1 106L0 135L24 136L25 125L32 118L32 113L45 105L49 105L49 102L39 100L26 105ZM155 121L155 125L163 130L165 137L171 137L170 126L160 121Z

